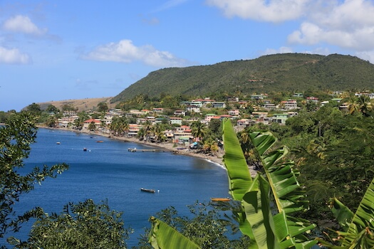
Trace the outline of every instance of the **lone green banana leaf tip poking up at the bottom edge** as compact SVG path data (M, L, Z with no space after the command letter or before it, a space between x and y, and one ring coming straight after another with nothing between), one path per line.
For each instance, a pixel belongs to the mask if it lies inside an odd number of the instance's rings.
M165 222L155 217L151 217L150 222L152 223L152 228L148 242L153 248L199 248L199 245L196 245L192 240L189 240L189 238L168 226Z

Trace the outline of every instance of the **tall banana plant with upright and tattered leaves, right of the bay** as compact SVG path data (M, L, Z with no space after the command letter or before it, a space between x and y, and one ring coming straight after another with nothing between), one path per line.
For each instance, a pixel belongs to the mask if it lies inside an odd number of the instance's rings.
M264 167L264 176L251 179L239 139L229 120L224 121L224 164L229 176L229 193L241 201L239 228L251 238L251 248L311 248L317 240L308 240L316 226L290 216L308 208L304 191L298 184L293 161L284 161L286 147L268 152L276 138L270 132L249 134ZM273 215L270 194L274 196L277 213Z

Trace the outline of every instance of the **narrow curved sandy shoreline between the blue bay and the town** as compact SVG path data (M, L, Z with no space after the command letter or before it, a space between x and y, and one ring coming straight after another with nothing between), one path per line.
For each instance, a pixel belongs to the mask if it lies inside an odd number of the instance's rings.
M54 130L64 130L64 131L69 131L69 132L81 132L85 134L93 134L101 137L108 137L110 139L116 139L124 142L134 142L136 144L143 144L147 147L157 147L160 149L165 149L169 152L172 152L174 154L180 154L182 156L189 156L189 157L197 157L200 159L205 159L207 161L211 161L214 164L219 164L223 169L226 170L226 167L224 166L224 161L223 161L223 149L219 149L219 152L217 153L217 156L211 155L211 154L203 154L203 153L197 153L197 150L194 149L189 149L188 147L185 147L186 149L177 149L180 147L175 147L175 144L173 143L168 143L168 142L162 142L162 143L152 143L152 142L145 142L145 141L140 141L137 138L134 137L115 137L115 136L109 136L108 134L101 134L101 133L96 133L96 132L90 132L90 131L85 131L85 130L75 130L75 129L63 129L63 128L51 128L51 127L43 127L43 126L38 126L38 128L46 128L46 129L54 129Z

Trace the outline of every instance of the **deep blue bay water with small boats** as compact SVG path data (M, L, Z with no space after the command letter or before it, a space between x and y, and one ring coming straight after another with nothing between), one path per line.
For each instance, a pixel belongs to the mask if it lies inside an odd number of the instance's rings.
M39 129L36 141L30 157L24 161L26 171L33 166L62 162L70 168L21 196L15 210L23 212L41 206L47 213L60 213L68 202L92 198L99 203L106 199L111 209L123 211L125 227L135 230L128 240L129 247L136 245L143 228L150 228L148 218L158 211L174 206L181 216L186 216L189 215L187 205L195 201L229 196L227 172L204 159L172 152L128 152L133 147L151 148L56 129ZM160 192L150 194L140 188ZM26 225L16 237L26 237L30 226Z

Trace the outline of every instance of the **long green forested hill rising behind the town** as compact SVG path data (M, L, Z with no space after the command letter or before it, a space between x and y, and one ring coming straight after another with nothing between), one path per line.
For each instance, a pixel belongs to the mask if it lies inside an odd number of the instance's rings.
M254 60L235 60L214 65L164 68L113 97L112 102L136 95L204 96L212 92L244 94L304 90L371 90L374 65L350 55L288 53L266 55Z

